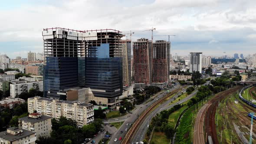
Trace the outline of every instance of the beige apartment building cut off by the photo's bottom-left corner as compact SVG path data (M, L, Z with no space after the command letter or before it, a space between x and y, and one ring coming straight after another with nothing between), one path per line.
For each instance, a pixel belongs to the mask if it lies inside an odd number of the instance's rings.
M36 133L12 127L0 132L0 144L36 144Z

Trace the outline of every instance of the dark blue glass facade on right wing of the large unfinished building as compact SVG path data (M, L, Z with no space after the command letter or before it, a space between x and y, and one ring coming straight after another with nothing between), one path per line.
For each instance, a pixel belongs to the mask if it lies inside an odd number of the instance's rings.
M122 58L87 58L85 63L85 87L91 88L96 97L122 95Z

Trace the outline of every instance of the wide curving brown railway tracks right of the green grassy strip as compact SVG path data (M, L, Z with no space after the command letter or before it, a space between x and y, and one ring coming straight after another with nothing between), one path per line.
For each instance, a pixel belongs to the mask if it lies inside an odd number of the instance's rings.
M211 136L213 144L219 144L215 127L215 112L218 102L225 98L226 95L236 92L239 88L241 88L241 86L236 86L218 93L200 109L194 125L194 144L206 143L204 129L206 130L207 137Z

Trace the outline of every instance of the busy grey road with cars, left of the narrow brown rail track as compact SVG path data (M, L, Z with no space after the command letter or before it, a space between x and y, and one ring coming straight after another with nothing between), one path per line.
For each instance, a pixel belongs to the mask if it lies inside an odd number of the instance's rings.
M174 89L178 88L180 85L178 83L175 84L174 88L170 88L168 90L173 91ZM148 108L150 105L152 105L154 102L158 101L160 98L162 98L163 96L167 95L169 92L165 91L163 92L161 95L158 95L157 97L155 97L152 101L149 101L148 103L146 103L145 105L137 105L136 109L134 111L132 111L132 114L128 117L128 118L123 118L122 120L124 120L124 124L121 125L121 127L118 129L118 131L115 131L115 133L112 134L111 140L108 144L121 144L121 141L117 141L114 142L115 138L119 139L120 137L122 137L122 139L124 138L125 134L127 133L127 131L125 131L125 128L131 128L130 125L126 126L126 124L133 124L135 122L135 120L138 118L138 116L136 115L136 113L138 113L138 115L141 115L141 113ZM119 118L118 118L119 119ZM116 121L115 121L116 122ZM120 134L120 131L123 131L122 134Z

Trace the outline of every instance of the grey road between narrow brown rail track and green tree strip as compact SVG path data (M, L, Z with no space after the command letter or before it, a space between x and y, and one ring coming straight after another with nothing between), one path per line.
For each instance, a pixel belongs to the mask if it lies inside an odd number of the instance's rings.
M208 85L209 82L206 82L203 85ZM186 91L187 88L184 88L184 92ZM181 101L178 101L179 104L184 103L185 101L189 100L190 98L192 98L194 95L197 94L197 90L195 90L193 93L191 93L190 95L188 95L186 98L182 99ZM137 133L135 134L134 139L132 140L133 143L136 142L140 142L144 139L144 136L148 130L148 124L151 121L151 119L157 114L160 113L161 111L170 109L172 107L174 107L174 105L177 105L177 103L174 103L172 105L169 105L171 103L171 101L174 101L174 98L177 98L179 95L179 93L177 93L176 95L174 95L173 98L170 98L168 101L165 101L163 104L161 104L161 106L159 106L158 108L156 108L154 111L152 111L152 113L150 115L148 115L148 117L145 119L145 122L141 124L140 128L138 129Z

